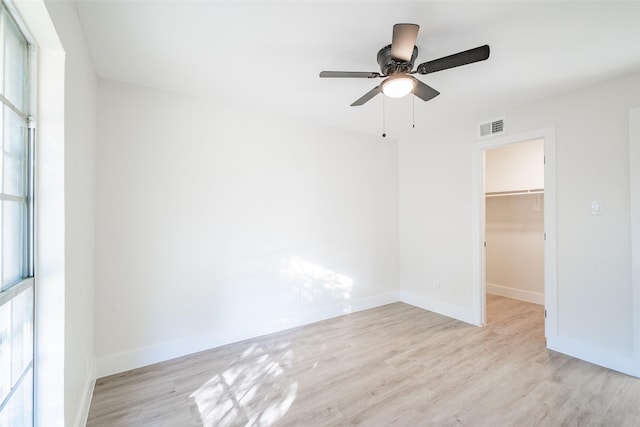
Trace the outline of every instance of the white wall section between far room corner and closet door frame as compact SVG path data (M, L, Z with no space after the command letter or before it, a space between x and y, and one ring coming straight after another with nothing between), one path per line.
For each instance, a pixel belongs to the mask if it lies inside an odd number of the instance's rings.
M456 126L398 146L401 299L469 323L476 135L475 126Z

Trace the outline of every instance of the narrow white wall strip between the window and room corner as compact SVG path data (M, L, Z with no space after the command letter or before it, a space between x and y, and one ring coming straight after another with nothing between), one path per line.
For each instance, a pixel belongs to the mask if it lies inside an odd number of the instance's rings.
M64 47L66 425L84 425L95 378L95 150L97 77L71 2L47 2ZM73 424L72 424L73 423Z

